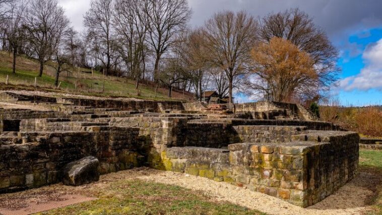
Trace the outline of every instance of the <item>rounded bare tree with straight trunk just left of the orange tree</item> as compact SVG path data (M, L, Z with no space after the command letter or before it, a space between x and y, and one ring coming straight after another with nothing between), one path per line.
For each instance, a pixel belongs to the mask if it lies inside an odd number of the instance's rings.
M219 67L229 82L229 102L232 103L232 89L235 76L247 72L250 50L256 40L258 23L245 12L220 12L209 19L204 26L209 62Z

